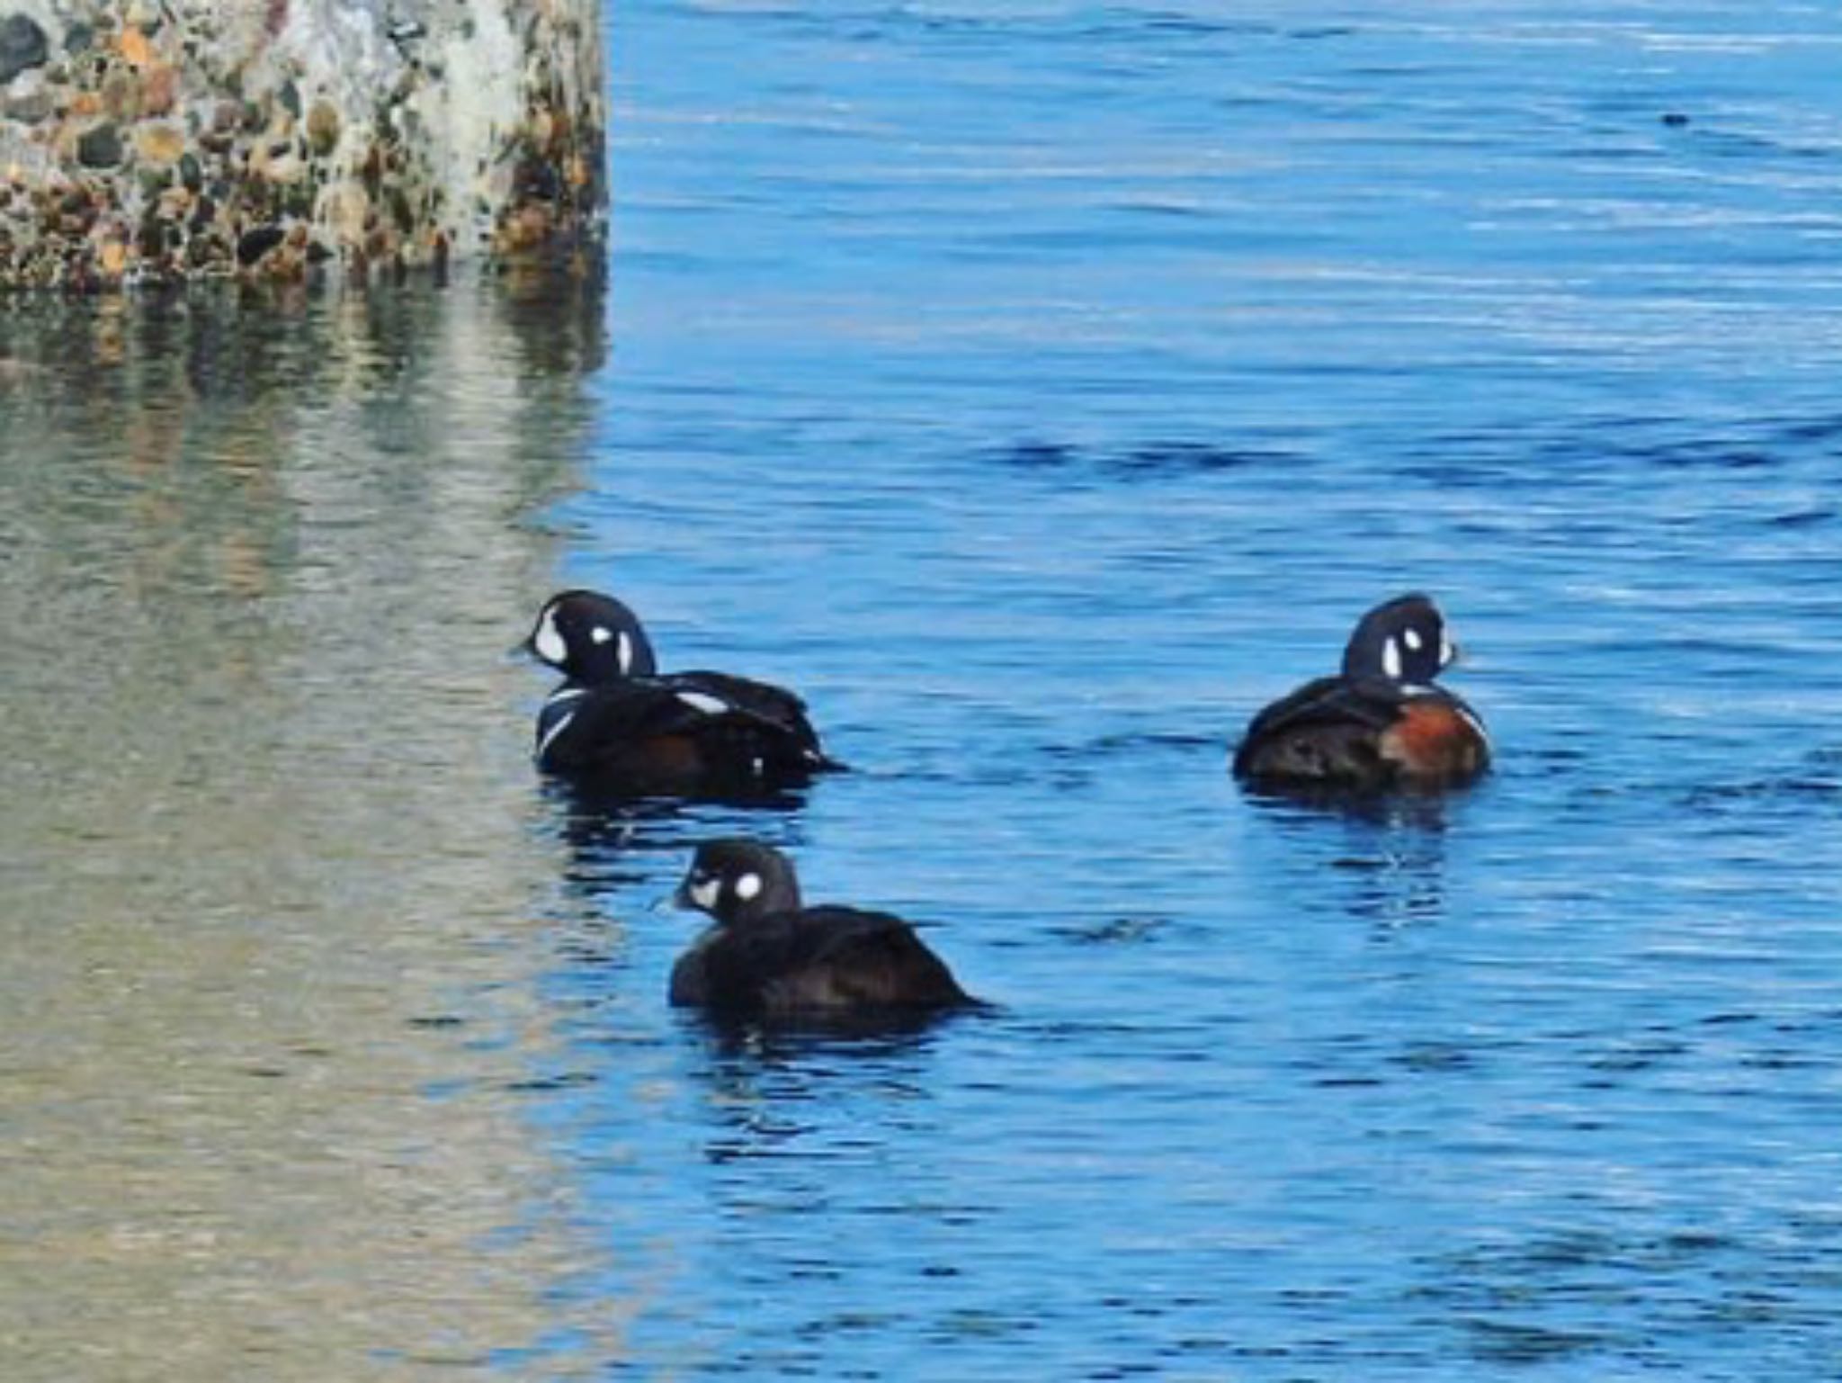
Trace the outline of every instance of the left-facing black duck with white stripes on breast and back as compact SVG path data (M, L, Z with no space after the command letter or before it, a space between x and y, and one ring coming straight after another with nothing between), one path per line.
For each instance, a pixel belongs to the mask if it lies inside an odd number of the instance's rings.
M545 773L634 793L724 793L838 767L792 692L726 673L661 675L639 620L612 596L553 596L525 649L567 679L538 712Z

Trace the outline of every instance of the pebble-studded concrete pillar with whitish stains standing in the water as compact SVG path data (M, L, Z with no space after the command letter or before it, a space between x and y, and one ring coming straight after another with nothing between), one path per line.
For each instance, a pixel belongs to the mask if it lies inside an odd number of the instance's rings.
M599 0L0 0L0 286L591 264Z

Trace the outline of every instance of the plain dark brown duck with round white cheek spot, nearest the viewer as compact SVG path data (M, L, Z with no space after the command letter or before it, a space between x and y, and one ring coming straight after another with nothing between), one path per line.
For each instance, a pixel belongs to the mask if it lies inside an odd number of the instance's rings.
M792 863L755 841L700 845L678 904L717 918L672 966L678 1007L864 1020L976 1005L899 916L803 907Z

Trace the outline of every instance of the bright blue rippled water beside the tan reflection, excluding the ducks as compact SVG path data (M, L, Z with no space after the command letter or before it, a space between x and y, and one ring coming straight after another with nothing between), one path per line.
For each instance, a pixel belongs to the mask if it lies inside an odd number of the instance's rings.
M540 1368L1842 1376L1842 42L1225 11L612 17L560 579L857 773L577 854L534 1116L628 1324ZM1413 586L1496 776L1240 793ZM647 902L718 830L1002 1016L705 1042Z

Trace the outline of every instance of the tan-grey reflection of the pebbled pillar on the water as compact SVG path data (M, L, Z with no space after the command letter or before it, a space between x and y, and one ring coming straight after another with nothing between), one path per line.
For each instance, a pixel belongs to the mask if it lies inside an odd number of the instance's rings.
M545 1023L503 649L600 358L562 284L0 313L9 1377L549 1318L554 1169L483 1095Z

